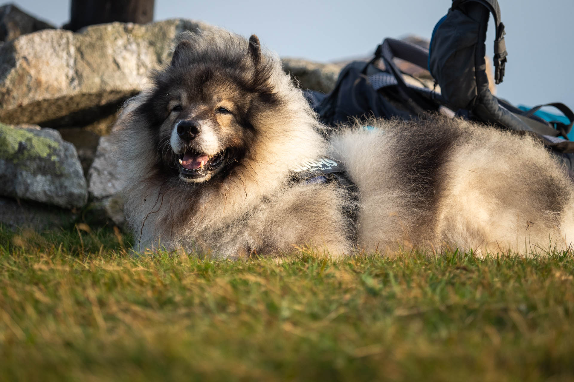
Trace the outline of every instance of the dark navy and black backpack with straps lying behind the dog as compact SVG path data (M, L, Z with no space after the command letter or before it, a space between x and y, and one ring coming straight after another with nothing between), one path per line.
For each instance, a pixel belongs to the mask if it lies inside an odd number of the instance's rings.
M486 74L486 29L494 15L494 78L497 84L505 74L506 34L497 0L453 0L447 15L433 30L430 48L387 38L375 50L371 61L351 62L339 74L329 94L306 93L323 123L331 126L352 119L400 117L413 119L428 112L443 111L529 133L573 169L574 142L567 134L574 124L574 113L561 103L538 105L527 112L498 99L488 89ZM414 84L395 64L395 58L430 71L440 92L430 86ZM384 64L381 69L379 62ZM559 109L569 124L547 122L534 115L544 106Z

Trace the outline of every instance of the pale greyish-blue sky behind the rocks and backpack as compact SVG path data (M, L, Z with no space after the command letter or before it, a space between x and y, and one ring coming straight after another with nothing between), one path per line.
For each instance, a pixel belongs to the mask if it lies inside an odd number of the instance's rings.
M60 26L69 0L14 2ZM509 52L498 95L514 104L561 101L574 109L574 0L499 0ZM430 37L450 0L156 0L155 19L183 17L256 33L282 57L333 61L366 56L384 37ZM494 29L492 25L490 29ZM492 54L493 35L487 38Z

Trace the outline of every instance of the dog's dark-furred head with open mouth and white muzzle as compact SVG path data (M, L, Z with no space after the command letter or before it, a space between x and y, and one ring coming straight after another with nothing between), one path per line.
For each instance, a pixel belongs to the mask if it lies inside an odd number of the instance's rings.
M235 41L181 39L139 107L152 122L162 168L187 182L224 176L241 162L259 133L254 114L280 102L257 36Z

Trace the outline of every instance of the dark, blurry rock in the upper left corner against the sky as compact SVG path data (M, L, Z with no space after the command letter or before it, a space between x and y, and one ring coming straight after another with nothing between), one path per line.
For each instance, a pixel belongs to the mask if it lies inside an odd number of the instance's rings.
M0 41L10 41L22 34L53 28L53 25L30 16L13 4L0 7Z

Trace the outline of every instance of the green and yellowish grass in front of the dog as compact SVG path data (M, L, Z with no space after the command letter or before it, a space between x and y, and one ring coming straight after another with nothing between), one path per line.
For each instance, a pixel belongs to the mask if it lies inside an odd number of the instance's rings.
M0 380L573 381L574 257L131 257L0 229Z

